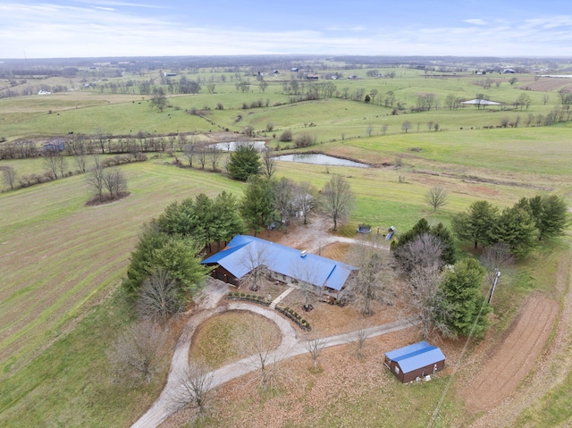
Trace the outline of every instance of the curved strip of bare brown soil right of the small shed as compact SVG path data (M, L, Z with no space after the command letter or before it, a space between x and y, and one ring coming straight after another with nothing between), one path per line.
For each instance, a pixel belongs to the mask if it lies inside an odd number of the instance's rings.
M500 348L463 390L467 410L489 410L516 390L543 353L558 313L555 300L541 294L528 298Z

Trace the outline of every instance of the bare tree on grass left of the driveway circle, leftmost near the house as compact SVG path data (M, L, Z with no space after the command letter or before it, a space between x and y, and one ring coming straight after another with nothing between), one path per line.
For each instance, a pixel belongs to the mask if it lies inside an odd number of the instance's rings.
M164 341L164 332L156 324L137 323L120 335L107 355L123 380L148 383L163 361Z

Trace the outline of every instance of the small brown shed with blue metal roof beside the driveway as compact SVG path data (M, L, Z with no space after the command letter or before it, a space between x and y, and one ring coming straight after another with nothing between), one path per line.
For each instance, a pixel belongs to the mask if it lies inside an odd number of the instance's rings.
M445 356L442 350L425 340L385 353L385 366L403 383L442 370Z

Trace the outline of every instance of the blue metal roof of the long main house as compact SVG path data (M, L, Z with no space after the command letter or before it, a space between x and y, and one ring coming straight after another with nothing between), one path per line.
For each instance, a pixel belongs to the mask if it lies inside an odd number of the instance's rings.
M349 273L356 269L315 254L301 256L299 249L245 235L235 236L227 248L202 263L220 264L240 279L253 269L253 262L264 264L275 273L333 290L341 290Z

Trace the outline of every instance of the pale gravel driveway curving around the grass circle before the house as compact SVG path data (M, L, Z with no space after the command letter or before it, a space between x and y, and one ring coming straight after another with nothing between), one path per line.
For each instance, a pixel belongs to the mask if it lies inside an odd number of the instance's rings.
M221 314L225 311L250 311L258 315L265 316L276 323L278 328L282 331L282 343L274 351L273 355L270 356L270 361L279 362L286 358L296 357L307 353L307 340L299 340L294 327L290 322L282 318L278 312L268 309L265 306L250 305L248 303L240 302L216 306L226 293L227 286L223 283L215 283L213 281L206 287L203 294L204 297L198 302L198 312L191 316L189 323L187 323L181 333L181 338L177 342L177 346L172 356L171 370L164 390L161 392L161 395L156 402L149 407L147 413L142 415L135 424L132 424L131 428L155 428L176 411L176 408L171 404L172 397L175 391L181 389L179 373L183 373L189 364L189 348L191 339L198 326L201 323L204 323L206 319L211 316ZM390 333L392 331L406 329L411 327L413 324L414 322L412 320L403 319L395 323L377 325L365 330L366 337L370 338ZM353 331L324 338L323 343L324 348L329 348L356 341L357 339L357 334ZM240 361L214 370L211 388L215 388L225 382L236 379L243 374L256 370L255 365L251 363L251 360L254 358L254 356L244 358Z

